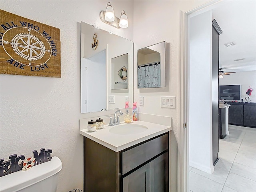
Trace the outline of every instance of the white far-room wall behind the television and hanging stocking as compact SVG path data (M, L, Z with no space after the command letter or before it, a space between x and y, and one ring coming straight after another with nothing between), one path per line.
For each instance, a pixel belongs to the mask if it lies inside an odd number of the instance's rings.
M223 76L223 79L220 79L220 85L241 85L241 99L250 97L250 102L256 102L256 71L237 72ZM249 86L254 89L250 96L246 94Z

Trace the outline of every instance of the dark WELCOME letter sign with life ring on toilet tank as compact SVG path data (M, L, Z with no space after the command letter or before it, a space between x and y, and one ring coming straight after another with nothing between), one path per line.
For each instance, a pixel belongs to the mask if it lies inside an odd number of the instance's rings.
M4 159L0 159L0 177L16 171L28 170L32 168L32 166L48 162L52 160L51 153L52 149L42 148L39 154L37 150L33 151L34 158L25 159L24 155L17 157L17 154L13 154L9 156L10 160L4 161Z

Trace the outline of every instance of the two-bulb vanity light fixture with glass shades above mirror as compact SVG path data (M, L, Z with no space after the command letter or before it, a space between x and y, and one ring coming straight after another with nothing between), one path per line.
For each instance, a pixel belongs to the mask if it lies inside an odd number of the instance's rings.
M114 9L110 5L110 2L107 4L106 11L100 12L100 19L102 22L109 24L116 28L127 28L128 27L128 19L124 10L121 12L120 19L114 15Z

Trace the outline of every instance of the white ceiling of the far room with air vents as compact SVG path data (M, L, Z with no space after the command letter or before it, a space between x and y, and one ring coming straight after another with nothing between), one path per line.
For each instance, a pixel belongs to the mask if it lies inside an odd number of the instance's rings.
M256 70L256 1L222 1L212 11L223 31L220 34L220 68L224 72ZM230 42L236 45L224 45ZM234 61L241 58L245 60Z

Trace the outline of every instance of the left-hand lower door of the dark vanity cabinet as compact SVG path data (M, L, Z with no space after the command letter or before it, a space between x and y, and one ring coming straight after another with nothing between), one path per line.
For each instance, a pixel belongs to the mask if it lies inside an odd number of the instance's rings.
M123 192L150 191L150 163L122 179Z

